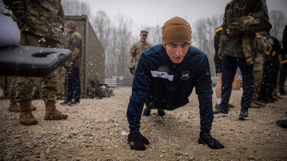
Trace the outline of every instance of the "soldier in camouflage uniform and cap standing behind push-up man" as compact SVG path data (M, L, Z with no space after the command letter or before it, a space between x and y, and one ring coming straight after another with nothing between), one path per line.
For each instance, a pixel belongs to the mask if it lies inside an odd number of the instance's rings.
M135 77L135 70L137 69L137 63L139 62L141 53L147 48L153 46L151 43L146 41L146 38L148 37L148 31L142 30L139 36L141 37L141 39L131 45L131 48L129 50L129 70L132 74L132 79Z

